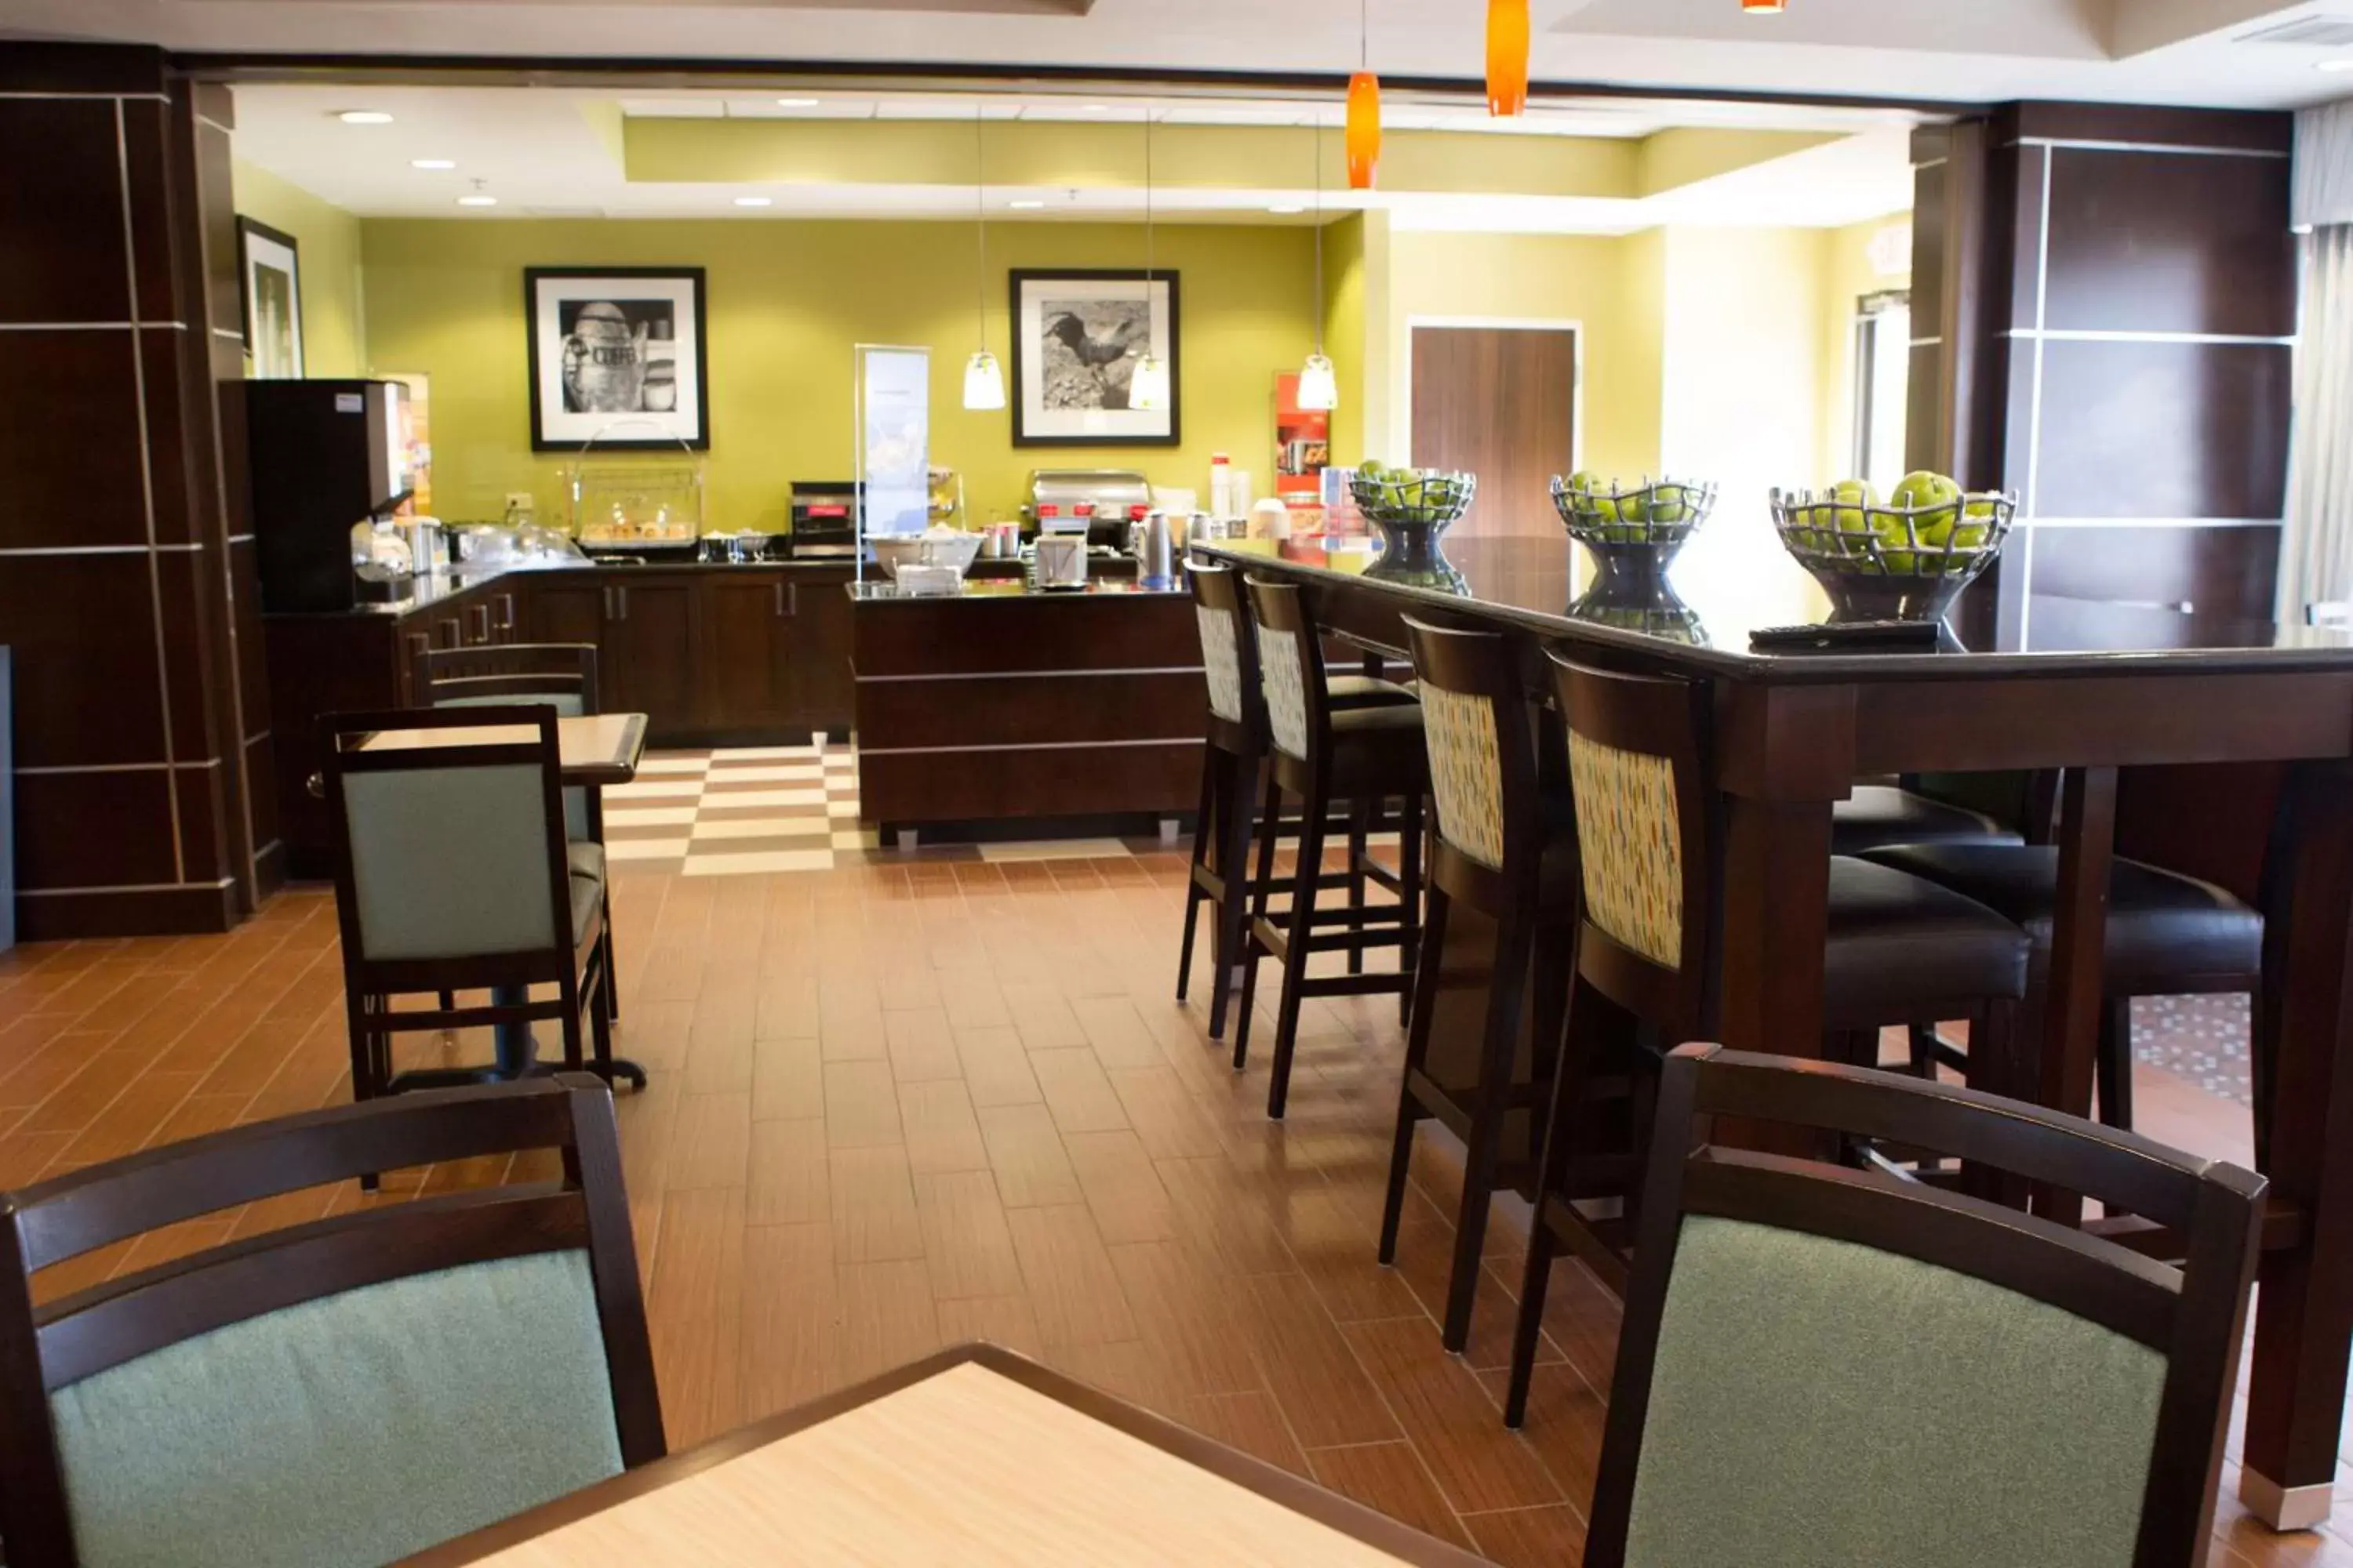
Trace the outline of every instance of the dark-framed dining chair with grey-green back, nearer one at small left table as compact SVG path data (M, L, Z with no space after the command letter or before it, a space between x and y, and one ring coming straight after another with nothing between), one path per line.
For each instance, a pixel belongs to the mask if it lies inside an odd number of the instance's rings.
M369 745L379 733L428 743ZM318 752L327 764L353 1098L482 1079L482 1070L395 1077L393 1034L421 1030L553 1020L565 1067L576 1070L584 1009L591 1070L609 1081L605 879L581 875L565 842L555 708L325 715ZM532 985L555 994L534 1001ZM393 1006L459 990L489 990L492 999Z

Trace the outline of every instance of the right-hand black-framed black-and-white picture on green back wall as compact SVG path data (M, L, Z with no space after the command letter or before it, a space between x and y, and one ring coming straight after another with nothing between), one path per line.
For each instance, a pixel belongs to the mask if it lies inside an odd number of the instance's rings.
M1176 273L1016 270L1014 447L1176 447ZM1167 407L1134 407L1144 355L1169 369Z

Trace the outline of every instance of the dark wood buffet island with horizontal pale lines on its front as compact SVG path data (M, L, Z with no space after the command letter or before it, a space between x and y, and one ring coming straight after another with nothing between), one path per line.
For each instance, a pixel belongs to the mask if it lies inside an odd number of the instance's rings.
M1127 581L852 583L864 820L920 837L1172 832L1200 795L1193 597Z

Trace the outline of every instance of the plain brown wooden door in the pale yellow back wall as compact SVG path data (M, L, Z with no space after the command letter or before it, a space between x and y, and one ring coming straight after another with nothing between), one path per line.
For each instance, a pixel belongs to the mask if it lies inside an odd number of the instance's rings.
M1551 482L1577 468L1574 430L1577 331L1414 327L1414 465L1478 475L1454 538L1558 536Z

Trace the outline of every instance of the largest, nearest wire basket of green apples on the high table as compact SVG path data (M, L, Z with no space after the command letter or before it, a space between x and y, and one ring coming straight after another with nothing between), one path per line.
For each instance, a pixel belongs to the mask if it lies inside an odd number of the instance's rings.
M2019 498L1948 494L1887 505L1840 491L1772 491L1772 527L1831 595L1833 621L1941 621L2009 538Z

